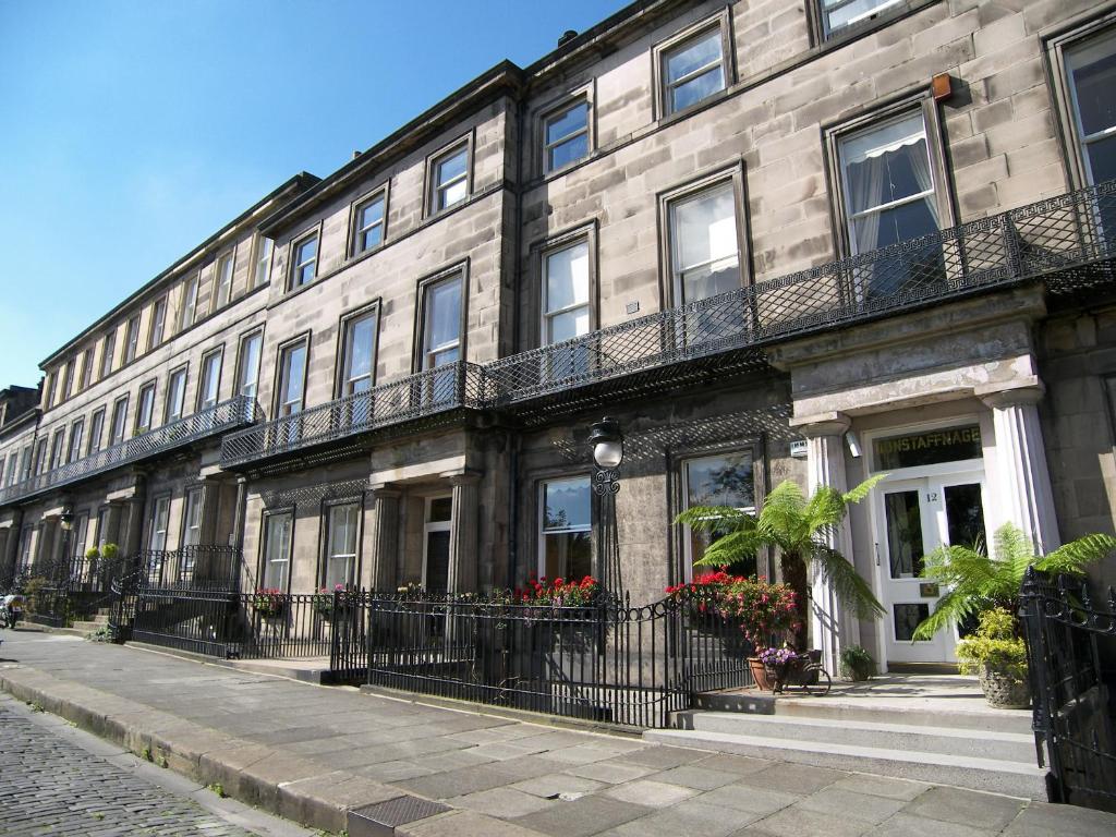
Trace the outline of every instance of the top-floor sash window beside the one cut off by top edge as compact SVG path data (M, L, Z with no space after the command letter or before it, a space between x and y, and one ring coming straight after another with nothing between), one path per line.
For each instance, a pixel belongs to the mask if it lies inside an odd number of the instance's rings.
M729 85L725 62L728 19L696 35L683 35L656 49L664 115L684 110Z

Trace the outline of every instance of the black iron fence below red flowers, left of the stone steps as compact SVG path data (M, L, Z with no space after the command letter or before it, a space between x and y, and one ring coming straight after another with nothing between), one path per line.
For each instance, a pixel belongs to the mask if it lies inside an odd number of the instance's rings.
M629 727L666 727L693 693L752 683L740 625L673 599L633 607L358 594L333 665L367 682ZM364 635L360 634L363 626Z

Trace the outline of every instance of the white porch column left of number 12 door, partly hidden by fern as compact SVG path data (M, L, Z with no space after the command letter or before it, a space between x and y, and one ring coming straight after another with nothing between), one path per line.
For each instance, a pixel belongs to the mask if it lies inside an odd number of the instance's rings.
M849 419L843 413L811 416L797 430L807 439L807 492L825 485L841 493L848 491L845 472L845 433ZM828 538L828 543L853 561L853 535L848 519ZM821 650L821 665L828 672L838 670L841 648L859 642L859 625L853 614L840 607L828 581L815 568L810 578L810 635Z

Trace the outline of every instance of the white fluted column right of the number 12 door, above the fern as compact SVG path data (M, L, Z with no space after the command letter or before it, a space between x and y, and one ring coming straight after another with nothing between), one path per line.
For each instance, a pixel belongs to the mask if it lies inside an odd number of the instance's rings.
M1032 376L1023 386L977 393L991 407L995 427L995 485L990 493L1002 498L1009 520L1041 554L1061 543L1037 406L1043 392Z

